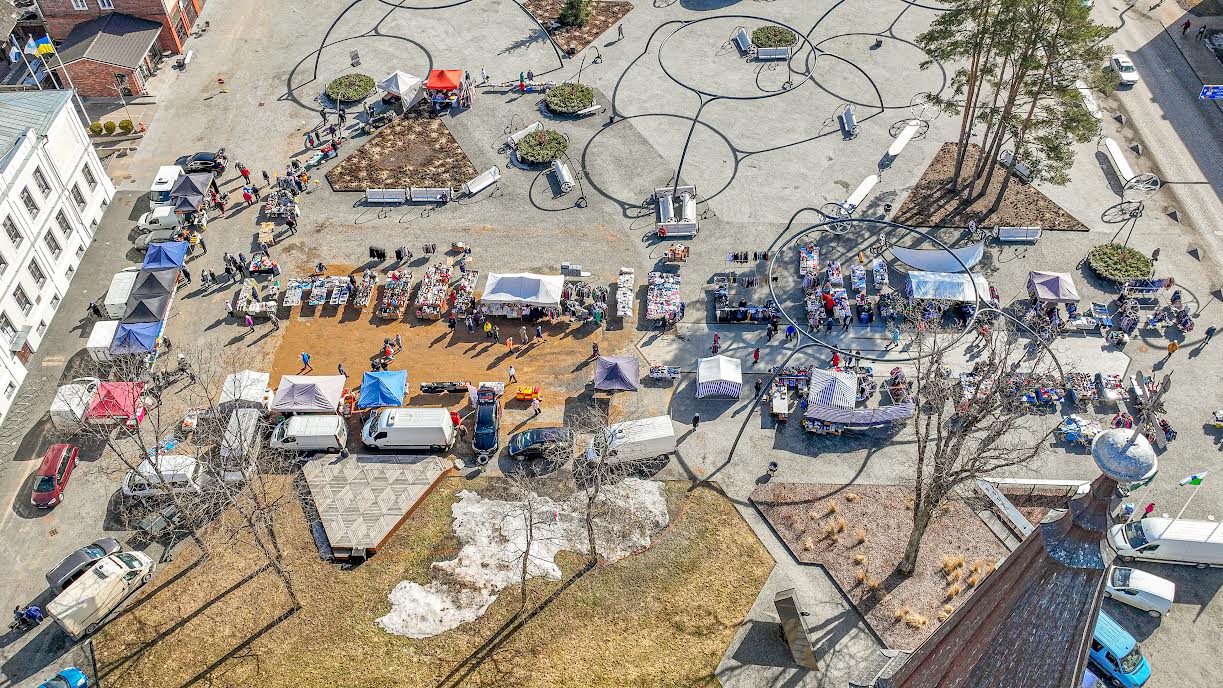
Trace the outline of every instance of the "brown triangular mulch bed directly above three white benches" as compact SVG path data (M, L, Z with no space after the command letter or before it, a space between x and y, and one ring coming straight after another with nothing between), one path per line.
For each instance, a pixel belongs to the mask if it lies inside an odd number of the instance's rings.
M430 187L457 189L476 176L445 120L427 103L374 133L327 172L335 191Z

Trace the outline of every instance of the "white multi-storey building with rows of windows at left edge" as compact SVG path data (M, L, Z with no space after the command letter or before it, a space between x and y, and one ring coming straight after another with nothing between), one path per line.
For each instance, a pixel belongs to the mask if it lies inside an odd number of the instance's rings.
M115 196L71 98L0 93L0 419Z

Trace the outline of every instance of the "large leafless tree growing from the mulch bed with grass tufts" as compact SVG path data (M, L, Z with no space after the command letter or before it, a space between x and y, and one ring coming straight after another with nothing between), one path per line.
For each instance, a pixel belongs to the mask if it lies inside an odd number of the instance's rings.
M978 330L971 345L972 369L963 376L951 374L963 364L950 356L960 330L932 323L911 330L917 468L912 533L896 567L904 576L912 574L926 528L953 490L1027 463L1048 446L1057 429L1033 414L1024 398L1040 385L1062 384L1055 359L1043 346L999 323L993 331Z

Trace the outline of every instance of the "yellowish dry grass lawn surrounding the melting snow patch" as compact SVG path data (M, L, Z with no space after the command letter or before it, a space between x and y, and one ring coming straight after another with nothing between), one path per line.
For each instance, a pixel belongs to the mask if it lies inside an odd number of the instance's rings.
M404 523L378 556L344 572L319 561L292 502L276 539L302 606L259 571L242 543L191 545L95 640L104 686L437 686L510 617L506 590L479 621L413 640L374 624L404 579L427 583L453 556L450 505L490 479L453 478ZM287 481L285 481L287 489ZM712 672L773 561L734 507L712 490L668 484L671 524L651 549L599 567L531 620L466 686L715 686ZM578 556L559 558L567 577ZM560 583L532 582L531 604Z

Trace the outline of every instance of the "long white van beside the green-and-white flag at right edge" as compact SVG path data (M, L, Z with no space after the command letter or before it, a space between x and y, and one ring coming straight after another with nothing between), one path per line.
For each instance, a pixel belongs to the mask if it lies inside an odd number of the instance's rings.
M1186 563L1197 568L1223 566L1223 523L1189 518L1144 518L1113 525L1108 544L1125 562L1136 558Z

